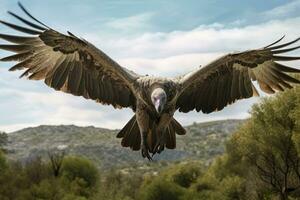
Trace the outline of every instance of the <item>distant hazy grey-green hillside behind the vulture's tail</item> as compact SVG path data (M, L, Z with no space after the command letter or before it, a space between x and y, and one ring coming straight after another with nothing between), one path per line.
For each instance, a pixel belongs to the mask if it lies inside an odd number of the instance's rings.
M177 148L155 155L154 160L179 161L200 159L210 162L224 152L224 144L244 120L222 120L194 123L185 127L187 134L177 137ZM8 157L12 160L26 161L42 156L48 151L64 148L68 154L86 156L99 167L123 167L132 164L145 164L140 152L133 152L121 146L116 138L118 130L79 127L75 125L25 128L8 134Z

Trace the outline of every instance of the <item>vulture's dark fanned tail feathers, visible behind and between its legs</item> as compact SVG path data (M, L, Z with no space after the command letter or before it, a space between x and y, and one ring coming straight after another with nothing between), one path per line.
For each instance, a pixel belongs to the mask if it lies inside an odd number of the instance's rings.
M158 139L157 126L155 121L150 122L150 129L147 134L147 144L149 152L155 154L155 146ZM165 146L168 149L176 148L176 134L184 135L185 129L173 118L166 128L165 134ZM134 151L140 150L141 147L141 134L134 115L127 124L118 133L117 138L122 138L121 145L123 147L130 147Z

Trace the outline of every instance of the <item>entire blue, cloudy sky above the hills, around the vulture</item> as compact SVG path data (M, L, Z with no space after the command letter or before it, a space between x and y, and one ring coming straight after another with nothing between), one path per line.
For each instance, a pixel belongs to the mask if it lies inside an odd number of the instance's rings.
M71 31L139 74L177 76L226 53L260 48L286 35L300 36L300 0L23 0L48 26ZM16 22L15 0L0 0L0 19ZM24 15L23 15L24 16ZM0 33L13 33L0 25ZM5 44L4 41L0 41ZM295 52L298 53L299 51ZM10 55L0 51L0 57ZM115 110L82 97L54 91L42 81L19 79L0 63L0 131L38 125L75 124L122 128L130 109ZM290 63L299 66L299 62ZM260 98L240 100L212 114L175 113L183 125L249 117Z

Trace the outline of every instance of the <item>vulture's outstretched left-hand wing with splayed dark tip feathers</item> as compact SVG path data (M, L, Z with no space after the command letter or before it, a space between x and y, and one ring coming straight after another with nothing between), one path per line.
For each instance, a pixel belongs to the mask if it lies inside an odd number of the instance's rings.
M0 23L30 37L0 34L0 39L13 44L0 45L0 49L15 52L1 61L17 61L10 68L26 70L21 77L44 80L60 91L83 96L114 107L135 107L133 84L137 74L121 67L101 50L72 33L63 35L37 19L19 4L21 9L38 24L9 12L30 28L8 22Z

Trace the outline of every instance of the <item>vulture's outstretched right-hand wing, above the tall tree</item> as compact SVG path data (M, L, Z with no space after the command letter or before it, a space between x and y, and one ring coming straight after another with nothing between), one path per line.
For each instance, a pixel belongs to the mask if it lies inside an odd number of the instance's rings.
M203 113L222 110L238 99L258 96L252 81L257 81L262 91L274 93L292 88L290 83L300 83L287 73L300 73L277 61L299 60L300 57L282 56L282 53L300 48L285 48L300 38L274 46L283 39L262 49L223 56L199 70L178 78L182 91L177 99L181 112L196 109Z

